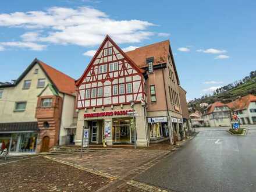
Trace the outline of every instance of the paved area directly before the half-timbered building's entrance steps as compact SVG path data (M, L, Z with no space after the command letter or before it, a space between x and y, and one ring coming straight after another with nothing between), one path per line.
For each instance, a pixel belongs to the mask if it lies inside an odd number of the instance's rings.
M120 149L84 153L83 158L80 155L54 155L54 158L113 177L123 177L144 163L168 153L167 150Z

